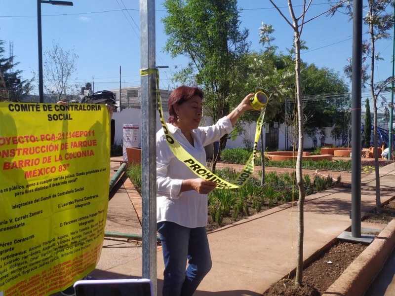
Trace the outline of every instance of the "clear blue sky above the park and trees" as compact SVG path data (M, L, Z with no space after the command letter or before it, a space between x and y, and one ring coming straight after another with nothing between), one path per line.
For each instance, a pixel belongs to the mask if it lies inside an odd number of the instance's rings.
M79 56L78 70L71 82L93 82L95 90L119 88L119 66L122 68L122 86L140 84L140 12L138 0L74 0L74 6L57 6L42 3L42 47L52 47L52 40L64 50L74 49ZM289 16L285 0L277 0L286 16ZM294 1L296 14L302 1ZM268 0L239 0L241 28L249 30L252 50L262 49L259 44L259 27L262 22L276 30L274 44L286 52L292 45L293 31ZM16 67L23 70L23 78L33 77L38 71L37 1L0 0L0 39L6 41L6 56L9 42L13 42ZM307 18L327 9L326 0L314 0ZM127 8L127 10L126 10ZM160 21L165 16L161 1L156 1L156 51L157 65L169 66L161 70L161 88L172 86L169 79L175 66L183 66L184 57L171 59L163 52L166 36ZM365 32L365 31L364 31ZM392 32L391 32L392 36ZM307 63L327 67L343 74L347 58L352 56L352 22L345 15L329 18L325 15L308 23L302 38L309 50L302 53ZM363 38L366 38L364 35ZM384 61L377 63L377 79L392 74L392 39L379 41L378 51ZM348 82L348 81L347 81ZM251 90L254 91L254 90ZM38 88L35 88L38 92ZM365 93L365 92L363 92Z

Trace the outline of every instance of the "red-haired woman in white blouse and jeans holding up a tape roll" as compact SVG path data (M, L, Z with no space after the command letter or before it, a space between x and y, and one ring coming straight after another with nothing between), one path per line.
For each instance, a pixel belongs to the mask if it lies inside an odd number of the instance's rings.
M177 87L168 100L168 130L189 154L205 164L204 146L232 131L238 117L252 109L249 101L253 96L247 95L215 125L199 127L202 91L197 87ZM163 129L158 131L157 222L165 267L162 296L192 296L211 269L205 226L207 194L215 186L215 182L198 178L179 161L168 147Z

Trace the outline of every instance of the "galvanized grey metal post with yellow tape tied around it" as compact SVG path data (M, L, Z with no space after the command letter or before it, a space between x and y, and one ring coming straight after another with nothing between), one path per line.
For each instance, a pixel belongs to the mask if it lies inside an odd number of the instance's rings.
M140 0L141 69L155 70L155 1ZM141 180L143 208L143 277L157 295L156 73L141 76Z

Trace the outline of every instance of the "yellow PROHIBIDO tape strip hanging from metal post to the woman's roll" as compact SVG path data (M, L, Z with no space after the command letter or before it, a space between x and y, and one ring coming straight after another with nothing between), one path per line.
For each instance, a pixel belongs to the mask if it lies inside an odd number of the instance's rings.
M170 150L173 152L174 156L176 156L178 160L184 162L185 165L188 166L198 177L207 181L216 182L217 188L242 187L254 173L254 159L257 152L259 136L262 131L263 119L265 117L267 104L265 104L265 106L262 108L259 118L257 120L254 148L251 153L251 156L249 157L247 163L244 165L242 171L237 175L236 179L232 182L228 182L218 177L210 170L208 170L204 165L198 162L191 154L189 154L183 147L180 146L180 144L174 139L173 135L169 132L169 130L167 129L167 124L163 118L162 100L160 98L160 92L159 92L159 71L158 69L140 70L141 76L147 76L149 74L154 74L154 73L156 73L157 99L158 99L158 111L159 111L160 122L163 127L164 136L166 138L167 145L169 146Z

